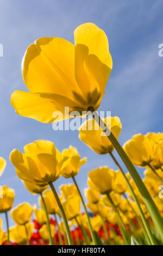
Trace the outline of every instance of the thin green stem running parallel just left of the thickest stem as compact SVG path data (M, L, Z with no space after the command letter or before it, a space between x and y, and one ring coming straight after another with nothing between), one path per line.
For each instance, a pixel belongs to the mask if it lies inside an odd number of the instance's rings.
M147 234L148 234L149 239L150 239L150 241L151 241L150 244L152 243L152 245L156 245L154 236L153 236L153 234L152 234L151 229L149 228L148 222L147 222L146 217L145 217L145 215L144 215L144 213L143 213L143 211L142 211L142 209L141 209L139 200L138 200L137 197L136 197L136 194L135 194L135 192L134 192L134 190L133 190L133 187L130 185L130 182L129 182L129 180L127 179L127 176L125 175L125 173L123 172L122 167L120 166L120 164L119 164L118 161L116 160L115 156L114 156L111 152L110 152L110 156L111 156L112 160L115 162L115 164L116 164L116 166L118 167L118 169L120 169L120 171L121 171L121 173L122 173L122 175L123 175L123 178L125 179L125 181L126 181L126 183L127 183L127 186L128 186L128 188L129 188L129 190L130 190L131 196L133 197L133 199L134 199L134 201L135 201L135 204L136 204L136 206L137 206L137 209L139 210L139 213L140 213L142 222L143 222L143 224L144 224L144 225L142 225L143 230L144 230L144 233L146 234L146 230L147 230ZM125 197L126 197L126 196L125 196ZM126 198L127 198L127 197L126 197ZM127 201L128 201L128 200L127 200ZM129 203L129 201L128 201L128 203ZM129 203L129 204L130 204L130 203ZM130 206L130 207L131 207L131 206ZM146 228L146 230L145 230L145 228ZM147 239L148 239L148 238L147 238Z

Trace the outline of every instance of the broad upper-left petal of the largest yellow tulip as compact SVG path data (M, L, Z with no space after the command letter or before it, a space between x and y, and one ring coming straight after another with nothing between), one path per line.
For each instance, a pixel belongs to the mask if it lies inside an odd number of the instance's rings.
M30 45L22 61L22 76L30 92L68 96L79 92L74 76L74 45L62 38L40 38Z

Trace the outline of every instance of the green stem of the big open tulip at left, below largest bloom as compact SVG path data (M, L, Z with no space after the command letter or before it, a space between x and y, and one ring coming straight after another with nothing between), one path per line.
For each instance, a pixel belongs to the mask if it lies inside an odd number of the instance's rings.
M68 245L73 245L73 240L72 240L72 236L71 236L71 232L70 232L70 228L68 226L68 222L67 222L67 218L66 218L66 215L65 215L65 211L64 211L64 208L60 202L60 199L59 199L59 196L57 194L57 191L55 190L54 188L54 185L51 182L49 182L49 186L51 187L52 191L53 191L53 194L54 194L54 197L58 203L58 206L59 206L59 209L60 209L60 212L61 212L61 216L62 216L62 219L64 221L64 224L65 224L65 229L66 229L66 234L67 234L67 240L68 240Z

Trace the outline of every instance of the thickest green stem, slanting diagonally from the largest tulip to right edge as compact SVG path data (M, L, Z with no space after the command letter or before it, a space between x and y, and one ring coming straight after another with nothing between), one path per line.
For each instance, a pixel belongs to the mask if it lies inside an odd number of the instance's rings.
M161 240L163 241L163 220L162 220L162 217L161 217L158 209L156 208L156 205L153 202L153 199L151 198L145 184L143 184L143 181L140 178L139 173L137 173L137 170L135 169L133 163L131 163L128 155L123 150L120 143L118 143L117 139L112 134L112 132L109 130L108 126L106 126L104 121L99 117L99 115L97 114L95 109L93 107L89 107L87 110L91 112L93 119L95 119L97 121L97 123L99 124L99 126L101 127L103 132L106 133L106 136L108 137L108 139L110 140L110 142L112 143L114 148L116 149L118 155L120 155L123 163L126 165L128 171L129 171L130 175L133 177L133 180L135 181L135 184L136 184L137 188L139 188L139 191L140 191L140 193L143 197L143 200L144 200L144 202L147 206L149 214L152 217L152 220L155 224L155 227L159 231Z

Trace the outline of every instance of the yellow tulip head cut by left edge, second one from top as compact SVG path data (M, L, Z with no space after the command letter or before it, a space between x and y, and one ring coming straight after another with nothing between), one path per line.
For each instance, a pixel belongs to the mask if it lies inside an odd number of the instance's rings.
M0 198L0 213L7 212L12 208L14 203L15 192L8 186L2 187L3 198Z

